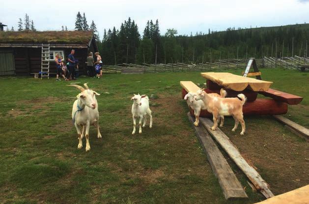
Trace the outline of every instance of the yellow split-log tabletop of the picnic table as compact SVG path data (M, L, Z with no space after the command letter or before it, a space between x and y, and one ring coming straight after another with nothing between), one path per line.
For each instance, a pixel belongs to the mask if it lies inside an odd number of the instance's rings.
M205 79L236 91L242 91L247 87L253 91L267 91L273 84L273 82L238 76L227 72L204 72L200 74Z

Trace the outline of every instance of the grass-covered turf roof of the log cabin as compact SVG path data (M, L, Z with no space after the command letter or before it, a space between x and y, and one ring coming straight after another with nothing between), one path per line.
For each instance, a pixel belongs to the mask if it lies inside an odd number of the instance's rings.
M0 32L3 44L88 44L92 31L5 31Z

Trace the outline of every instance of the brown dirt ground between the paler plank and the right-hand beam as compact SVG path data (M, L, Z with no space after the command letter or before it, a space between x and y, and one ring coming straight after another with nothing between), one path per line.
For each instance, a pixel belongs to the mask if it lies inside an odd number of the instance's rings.
M227 119L227 118L226 118ZM228 118L233 120L232 118ZM284 129L272 117L256 117L266 120L253 124L254 117L246 121L246 133L231 132L232 125L221 128L249 163L270 184L275 195L291 191L309 183L308 143Z

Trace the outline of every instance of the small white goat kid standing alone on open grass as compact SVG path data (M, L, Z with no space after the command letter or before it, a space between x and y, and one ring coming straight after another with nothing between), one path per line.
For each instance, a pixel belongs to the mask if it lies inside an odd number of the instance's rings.
M133 100L133 105L132 105L132 117L133 117L133 132L132 135L135 134L135 128L136 128L136 119L138 117L140 117L140 131L139 133L141 133L141 121L143 120L144 123L142 125L142 127L146 126L146 121L147 121L147 117L146 115L148 115L150 117L150 124L149 124L149 128L152 128L152 116L151 116L151 111L149 108L149 98L146 95L135 95L131 98L131 100Z

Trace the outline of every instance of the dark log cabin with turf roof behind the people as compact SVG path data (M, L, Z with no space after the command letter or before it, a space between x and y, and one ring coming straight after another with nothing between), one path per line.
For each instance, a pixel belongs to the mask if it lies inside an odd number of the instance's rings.
M92 31L0 31L0 76L41 71L42 44L50 44L50 73L56 72L56 54L67 62L74 49L80 74L85 74L87 55L98 52Z

